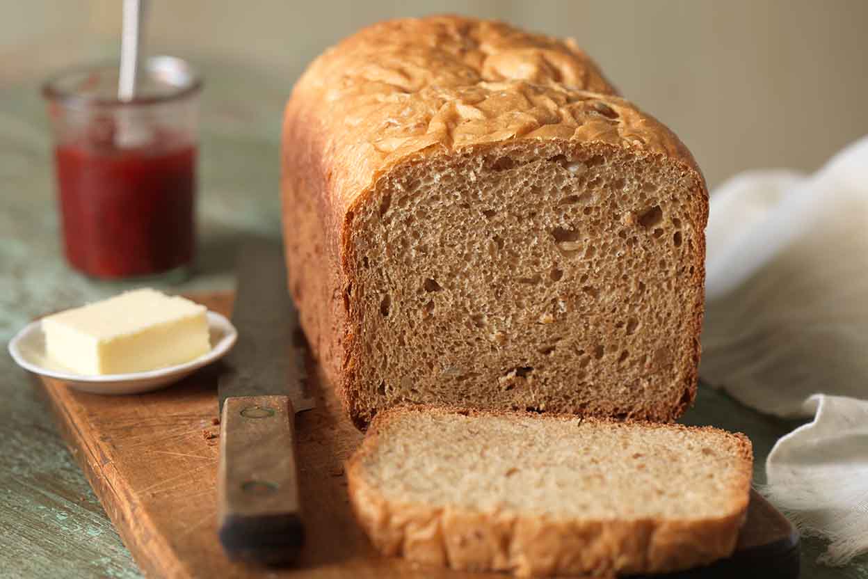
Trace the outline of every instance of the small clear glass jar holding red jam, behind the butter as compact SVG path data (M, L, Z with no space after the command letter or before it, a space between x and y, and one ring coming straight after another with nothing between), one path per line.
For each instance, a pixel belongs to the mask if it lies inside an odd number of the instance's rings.
M116 64L46 82L63 248L102 279L184 278L194 258L201 78L184 61L141 63L135 96Z

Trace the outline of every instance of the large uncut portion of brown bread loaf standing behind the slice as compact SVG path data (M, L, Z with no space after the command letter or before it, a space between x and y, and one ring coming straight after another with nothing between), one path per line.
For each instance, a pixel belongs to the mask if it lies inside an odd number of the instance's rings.
M311 64L283 130L290 291L359 427L402 402L690 405L706 187L574 43L378 23Z

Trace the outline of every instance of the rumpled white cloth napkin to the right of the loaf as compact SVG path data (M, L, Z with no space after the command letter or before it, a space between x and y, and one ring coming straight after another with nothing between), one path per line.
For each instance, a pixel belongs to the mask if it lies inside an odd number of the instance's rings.
M766 461L768 495L823 560L868 552L868 137L816 174L753 171L712 195L700 375L814 419Z

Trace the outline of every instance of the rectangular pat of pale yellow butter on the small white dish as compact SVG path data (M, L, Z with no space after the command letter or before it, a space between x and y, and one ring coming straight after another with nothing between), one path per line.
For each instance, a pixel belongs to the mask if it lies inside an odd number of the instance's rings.
M80 374L147 372L211 349L207 308L152 289L43 318L49 358Z

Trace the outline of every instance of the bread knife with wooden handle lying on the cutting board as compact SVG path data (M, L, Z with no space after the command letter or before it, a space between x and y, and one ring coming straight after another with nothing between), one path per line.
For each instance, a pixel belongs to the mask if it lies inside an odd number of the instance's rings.
M304 339L279 245L248 243L238 264L238 341L218 381L220 543L233 561L291 563L305 536L293 423L315 404Z

